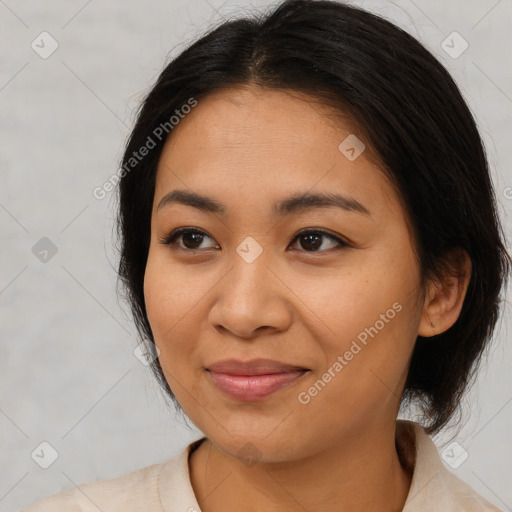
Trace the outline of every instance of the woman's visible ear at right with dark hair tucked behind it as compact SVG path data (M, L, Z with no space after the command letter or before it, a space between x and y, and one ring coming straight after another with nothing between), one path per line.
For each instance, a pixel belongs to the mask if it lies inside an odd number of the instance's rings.
M463 249L446 257L445 275L428 285L418 335L429 337L447 331L459 318L471 279L471 259Z

